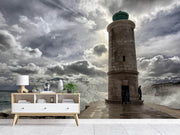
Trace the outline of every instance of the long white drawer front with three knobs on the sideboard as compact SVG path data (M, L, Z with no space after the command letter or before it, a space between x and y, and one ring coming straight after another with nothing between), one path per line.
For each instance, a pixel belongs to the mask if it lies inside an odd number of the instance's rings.
M18 104L12 105L13 113L79 113L78 103Z

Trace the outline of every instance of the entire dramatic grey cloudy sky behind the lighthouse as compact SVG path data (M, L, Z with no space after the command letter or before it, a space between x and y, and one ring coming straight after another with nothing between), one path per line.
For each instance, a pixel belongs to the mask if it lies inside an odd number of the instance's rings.
M0 85L29 74L107 90L108 33L123 10L136 23L139 83L180 80L179 0L0 0Z

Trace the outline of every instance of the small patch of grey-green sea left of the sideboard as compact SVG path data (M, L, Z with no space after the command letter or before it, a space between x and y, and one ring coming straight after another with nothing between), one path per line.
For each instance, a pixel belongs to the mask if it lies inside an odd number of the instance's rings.
M10 112L11 93L12 92L0 92L0 112Z

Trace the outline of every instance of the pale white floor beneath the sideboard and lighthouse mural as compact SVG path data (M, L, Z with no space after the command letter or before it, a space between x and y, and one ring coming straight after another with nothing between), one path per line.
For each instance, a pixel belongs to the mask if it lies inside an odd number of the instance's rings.
M0 135L180 135L179 119L0 119Z

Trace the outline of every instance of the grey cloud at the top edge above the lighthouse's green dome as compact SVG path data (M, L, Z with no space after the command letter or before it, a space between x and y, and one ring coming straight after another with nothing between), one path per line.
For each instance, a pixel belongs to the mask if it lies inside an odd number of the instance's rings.
M177 4L178 0L104 0L100 3L108 9L111 15L121 10L128 12L132 18L141 19L152 16L160 10L169 9L172 5Z

